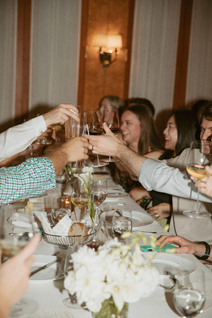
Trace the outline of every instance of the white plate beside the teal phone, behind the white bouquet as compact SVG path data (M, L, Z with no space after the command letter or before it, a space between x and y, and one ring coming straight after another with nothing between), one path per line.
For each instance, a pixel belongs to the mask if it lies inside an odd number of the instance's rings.
M149 252L144 253L149 254ZM179 272L192 273L196 269L195 264L190 259L172 253L154 253L151 266L156 267L160 276L167 275L167 271L178 275Z

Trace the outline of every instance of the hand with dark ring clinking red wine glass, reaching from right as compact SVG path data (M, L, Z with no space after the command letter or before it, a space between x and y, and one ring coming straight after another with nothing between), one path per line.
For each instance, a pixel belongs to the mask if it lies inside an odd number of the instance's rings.
M120 146L124 146L123 143L112 133L105 122L103 127L106 132L105 135L84 135L89 140L90 145L88 149L91 149L93 154L118 156L118 149Z

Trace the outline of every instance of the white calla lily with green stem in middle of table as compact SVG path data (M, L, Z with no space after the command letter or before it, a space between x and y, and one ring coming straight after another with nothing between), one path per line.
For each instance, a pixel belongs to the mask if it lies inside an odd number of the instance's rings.
M80 173L80 174L74 173L73 174L74 177L77 177L81 182L84 183L85 192L88 193L89 196L91 196L90 180L93 180L93 176L92 176L93 172L94 172L94 170L92 167L84 167L82 169L82 173ZM93 207L92 198L91 198L91 202L88 204L88 210L89 210L91 220L93 222L93 220L95 218L95 210Z

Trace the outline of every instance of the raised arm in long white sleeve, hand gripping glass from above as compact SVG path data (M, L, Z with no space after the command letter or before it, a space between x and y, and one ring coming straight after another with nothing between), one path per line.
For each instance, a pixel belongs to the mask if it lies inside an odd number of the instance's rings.
M7 129L0 134L0 162L26 149L49 125L58 122L63 124L68 120L68 116L79 121L79 117L73 111L77 113L78 109L72 104L60 104L43 116Z

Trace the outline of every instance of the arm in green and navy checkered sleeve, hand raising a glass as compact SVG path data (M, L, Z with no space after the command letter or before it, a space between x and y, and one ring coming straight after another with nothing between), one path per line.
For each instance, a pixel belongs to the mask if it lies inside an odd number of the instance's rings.
M0 204L33 197L56 186L55 175L68 161L87 159L88 142L76 137L49 157L30 158L16 167L0 169Z

